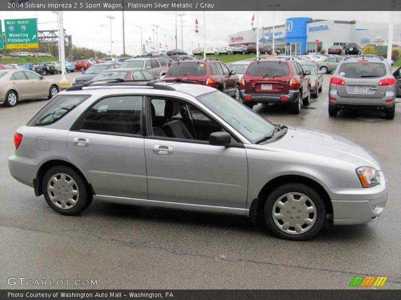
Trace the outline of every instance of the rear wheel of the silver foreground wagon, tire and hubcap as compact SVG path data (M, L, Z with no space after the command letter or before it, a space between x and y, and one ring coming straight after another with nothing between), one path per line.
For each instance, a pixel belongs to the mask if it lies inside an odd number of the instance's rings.
M80 213L92 201L85 179L71 167L51 167L43 177L42 190L49 206L65 215Z

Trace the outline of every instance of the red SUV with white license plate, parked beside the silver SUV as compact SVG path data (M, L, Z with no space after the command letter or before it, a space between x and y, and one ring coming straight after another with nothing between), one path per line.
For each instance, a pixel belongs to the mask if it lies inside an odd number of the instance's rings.
M257 58L245 70L241 79L243 103L287 103L298 114L309 104L310 71L304 71L296 60Z

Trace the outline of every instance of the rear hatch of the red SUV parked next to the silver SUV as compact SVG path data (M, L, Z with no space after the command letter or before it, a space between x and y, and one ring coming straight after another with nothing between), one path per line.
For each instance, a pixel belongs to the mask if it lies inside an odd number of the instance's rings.
M288 94L290 69L286 62L252 62L244 74L246 93Z

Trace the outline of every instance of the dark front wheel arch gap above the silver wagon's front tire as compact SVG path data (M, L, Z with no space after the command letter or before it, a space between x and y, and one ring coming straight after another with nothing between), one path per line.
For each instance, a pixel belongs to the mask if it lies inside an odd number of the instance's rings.
M252 203L249 206L250 207L249 216L252 218L253 221L260 219L260 217L263 216L263 207L267 196L275 188L286 183L301 183L313 188L322 197L324 205L326 207L326 213L327 214L333 213L333 205L331 203L330 196L319 182L303 175L287 174L271 179L259 191L258 197L252 200Z

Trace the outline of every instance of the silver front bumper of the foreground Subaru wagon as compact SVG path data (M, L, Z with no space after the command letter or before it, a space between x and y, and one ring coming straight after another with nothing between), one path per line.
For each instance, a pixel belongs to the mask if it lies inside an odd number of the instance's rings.
M387 180L379 172L381 183L367 188L326 188L333 205L334 225L370 222L384 210L387 201Z

